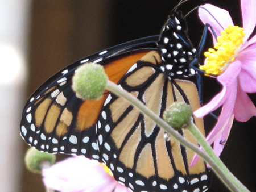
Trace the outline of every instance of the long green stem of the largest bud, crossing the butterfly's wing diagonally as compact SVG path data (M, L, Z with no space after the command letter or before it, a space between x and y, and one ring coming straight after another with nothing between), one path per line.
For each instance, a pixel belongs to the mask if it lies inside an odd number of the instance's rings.
M179 140L179 142L184 146L188 147L192 151L196 152L200 155L205 162L207 162L213 169L213 171L221 178L221 181L225 181L224 184L230 189L231 191L240 192L240 191L249 191L245 187L242 190L236 189L236 185L232 181L229 180L230 174L226 174L222 172L221 168L218 167L217 163L205 152L200 150L196 145L192 144L188 140L184 139L177 131L175 131L172 127L170 127L163 119L159 118L158 115L154 114L151 110L149 110L141 101L135 98L133 95L129 94L126 90L123 90L122 87L117 86L111 81L108 81L106 89L112 91L115 95L119 97L123 97L127 99L131 105L139 108L139 110L144 114L150 117L159 127L164 128L164 130L169 133L170 135L174 136L175 139ZM205 139L204 139L205 140ZM201 141L200 141L201 142ZM217 157L218 158L218 157ZM219 159L220 161L220 159ZM228 170L228 169L226 169ZM232 174L233 176L233 174Z

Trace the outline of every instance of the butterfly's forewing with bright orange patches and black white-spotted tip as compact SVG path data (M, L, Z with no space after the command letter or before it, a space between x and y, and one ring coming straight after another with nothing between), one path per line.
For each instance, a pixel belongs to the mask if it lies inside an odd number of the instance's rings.
M71 89L72 76L85 62L104 65L109 79L118 82L147 52L156 49L159 36L117 45L85 57L49 78L26 103L20 134L32 147L50 153L85 155L99 159L96 120L106 95L98 101L82 101Z

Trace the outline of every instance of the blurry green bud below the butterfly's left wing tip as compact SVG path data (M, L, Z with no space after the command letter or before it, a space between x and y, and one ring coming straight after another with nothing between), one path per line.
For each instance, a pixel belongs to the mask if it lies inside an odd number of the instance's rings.
M55 163L56 156L51 153L43 153L34 148L27 150L25 155L25 164L32 173L41 173L42 164L48 162L49 165Z

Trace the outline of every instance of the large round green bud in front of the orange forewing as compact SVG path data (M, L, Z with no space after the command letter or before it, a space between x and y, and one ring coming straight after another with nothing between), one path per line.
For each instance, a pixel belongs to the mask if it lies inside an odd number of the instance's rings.
M81 65L72 78L72 89L84 100L100 99L104 94L108 76L102 65L92 62Z

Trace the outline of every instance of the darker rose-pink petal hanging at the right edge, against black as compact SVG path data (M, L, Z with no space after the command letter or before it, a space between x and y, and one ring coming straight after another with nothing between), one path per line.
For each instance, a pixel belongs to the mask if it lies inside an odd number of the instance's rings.
M234 117L240 122L246 122L252 116L256 116L256 108L254 106L254 103L238 84L237 98L234 106Z

